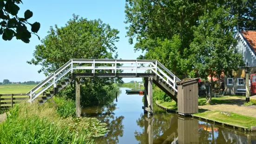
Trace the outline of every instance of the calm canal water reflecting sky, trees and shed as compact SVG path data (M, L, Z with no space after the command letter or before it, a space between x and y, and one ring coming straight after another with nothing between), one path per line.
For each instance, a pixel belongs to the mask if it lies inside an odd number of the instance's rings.
M109 107L83 109L87 117L108 124L110 132L98 137L97 144L256 144L256 133L184 118L158 107L149 117L142 110L143 96L127 95L125 89Z

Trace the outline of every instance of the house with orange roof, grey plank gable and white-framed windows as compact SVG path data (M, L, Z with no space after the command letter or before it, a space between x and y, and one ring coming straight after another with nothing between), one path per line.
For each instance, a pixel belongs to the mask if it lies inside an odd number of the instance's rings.
M237 49L243 53L244 63L251 67L249 74L256 72L256 31L237 31L234 37L237 39ZM227 94L235 95L237 89L245 89L245 71L240 68L233 71L233 77L224 77L224 85ZM250 84L249 84L250 85ZM245 93L244 93L245 94Z

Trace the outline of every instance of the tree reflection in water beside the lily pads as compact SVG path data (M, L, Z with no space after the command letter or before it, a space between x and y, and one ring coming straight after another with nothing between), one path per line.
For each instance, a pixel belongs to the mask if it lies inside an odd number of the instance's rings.
M105 107L93 107L83 109L86 117L98 118L101 122L108 124L108 132L105 137L96 138L98 144L118 144L118 137L123 137L124 125L122 124L124 116L115 116L113 112L116 109L116 104Z

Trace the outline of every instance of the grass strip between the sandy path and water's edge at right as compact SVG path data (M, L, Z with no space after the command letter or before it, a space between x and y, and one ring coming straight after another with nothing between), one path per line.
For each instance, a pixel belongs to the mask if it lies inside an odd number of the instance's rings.
M221 114L220 111L205 111L202 113L196 113L194 115L204 118L209 118L214 121L219 121L228 124L239 125L243 127L250 128L251 126L256 126L256 118L243 116L230 112L231 116Z

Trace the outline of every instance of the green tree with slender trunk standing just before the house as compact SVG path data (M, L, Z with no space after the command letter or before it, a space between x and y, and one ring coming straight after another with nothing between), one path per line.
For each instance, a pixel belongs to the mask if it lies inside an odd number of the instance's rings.
M194 26L190 62L193 63L197 76L207 79L210 75L211 84L213 75L244 66L243 54L237 51L234 33L230 31L237 23L235 17L230 17L230 10L225 5L211 3L199 18L199 25ZM213 85L207 102L211 100L212 88Z

